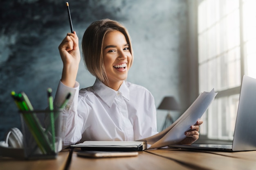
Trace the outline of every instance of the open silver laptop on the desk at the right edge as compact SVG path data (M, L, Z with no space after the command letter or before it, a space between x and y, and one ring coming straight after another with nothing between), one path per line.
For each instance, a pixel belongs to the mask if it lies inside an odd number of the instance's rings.
M243 76L232 145L191 144L168 146L229 152L256 150L256 79Z

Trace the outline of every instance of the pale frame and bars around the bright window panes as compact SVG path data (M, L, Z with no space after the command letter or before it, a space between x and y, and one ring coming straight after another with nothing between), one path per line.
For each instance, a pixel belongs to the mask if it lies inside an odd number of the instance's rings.
M199 51L198 51L198 5L203 2L204 0L196 0L190 1L187 0L188 3L188 25L189 25L189 41L188 41L188 62L190 65L188 76L190 82L190 96L189 102L190 104L198 97L199 94ZM243 75L246 73L246 61L245 61L245 42L244 42L244 25L243 25L243 0L239 0L239 25L240 25L240 82L242 81ZM224 89L218 92L216 99L223 98L225 96L231 96L240 94L240 87L241 84L237 87L232 87L229 89ZM208 111L207 111L208 112ZM208 113L204 113L204 116L208 116ZM207 122L205 122L207 124ZM207 124L208 125L208 124ZM207 131L207 129L206 129ZM209 139L207 133L200 134L200 138L198 142L219 142L219 143L226 143L232 142L232 139Z

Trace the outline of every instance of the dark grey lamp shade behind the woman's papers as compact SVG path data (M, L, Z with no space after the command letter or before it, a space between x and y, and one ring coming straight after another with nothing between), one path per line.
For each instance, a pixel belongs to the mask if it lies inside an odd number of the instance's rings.
M158 106L157 109L162 110L179 110L180 105L177 103L174 97L172 96L166 96L163 98L162 102Z

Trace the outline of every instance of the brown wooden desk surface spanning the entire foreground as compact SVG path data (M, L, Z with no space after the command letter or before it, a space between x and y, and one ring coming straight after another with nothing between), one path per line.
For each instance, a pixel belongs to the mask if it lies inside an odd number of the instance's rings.
M21 161L0 158L1 170L63 170L68 158L68 150L59 153L56 159ZM170 170L170 169L216 169L241 170L256 169L256 151L248 152L208 152L179 149L158 149L139 152L136 157L84 158L73 152L70 170Z

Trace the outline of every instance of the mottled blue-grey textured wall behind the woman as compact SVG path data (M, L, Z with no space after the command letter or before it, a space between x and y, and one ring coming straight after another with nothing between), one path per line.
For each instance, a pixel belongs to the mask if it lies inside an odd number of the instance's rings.
M20 128L18 109L10 92L24 91L35 109L47 106L47 87L56 92L62 61L58 45L70 32L64 0L2 0L0 6L0 140L7 129ZM74 30L80 39L94 20L110 18L130 32L135 60L128 81L152 92L156 106L166 95L187 108L186 0L70 1ZM95 78L79 68L81 88ZM158 130L166 111L157 111ZM179 114L174 113L174 117Z

